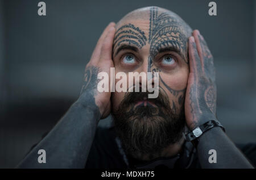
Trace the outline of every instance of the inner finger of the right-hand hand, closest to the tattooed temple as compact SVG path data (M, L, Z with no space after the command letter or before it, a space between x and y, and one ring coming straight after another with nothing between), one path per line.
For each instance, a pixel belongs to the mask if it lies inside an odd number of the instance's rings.
M193 36L189 37L188 43L188 54L189 54L189 69L193 74L201 74L202 66L199 54L196 48L195 38Z

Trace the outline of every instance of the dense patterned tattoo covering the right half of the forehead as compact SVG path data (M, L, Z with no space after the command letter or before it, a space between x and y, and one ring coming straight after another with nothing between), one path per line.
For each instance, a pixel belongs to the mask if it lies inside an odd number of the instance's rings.
M187 62L187 33L185 23L171 12L158 14L157 7L150 9L150 26L148 43L150 55L154 57L161 48L171 47Z

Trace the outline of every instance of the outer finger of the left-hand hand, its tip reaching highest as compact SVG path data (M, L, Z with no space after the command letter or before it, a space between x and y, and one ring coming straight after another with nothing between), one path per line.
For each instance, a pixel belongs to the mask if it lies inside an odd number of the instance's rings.
M102 32L101 34L101 37L100 39L98 40L97 44L96 44L96 47L93 51L93 54L92 54L92 57L91 57L91 60L97 60L100 58L100 53L101 53L101 47L102 47L102 43L106 37L106 35L108 34L109 32L109 28L111 27L114 27L115 26L115 23L111 22L109 23L109 25L105 28L105 30Z

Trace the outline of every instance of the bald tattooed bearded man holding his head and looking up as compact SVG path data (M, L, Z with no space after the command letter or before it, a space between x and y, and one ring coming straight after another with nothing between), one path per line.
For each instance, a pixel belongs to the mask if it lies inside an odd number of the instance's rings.
M158 72L158 97L98 91L98 73L110 74L110 68ZM141 90L142 84L139 78ZM113 123L96 133L110 112ZM39 149L47 152L46 164L37 161ZM217 163L209 152L217 153ZM159 7L135 10L106 27L86 65L79 99L19 167L253 168L217 120L213 57L203 36Z

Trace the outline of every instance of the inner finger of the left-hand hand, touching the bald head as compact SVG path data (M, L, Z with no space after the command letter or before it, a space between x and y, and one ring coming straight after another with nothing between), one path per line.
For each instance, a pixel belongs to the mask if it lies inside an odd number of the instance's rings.
M108 35L105 37L105 40L102 43L101 59L112 60L112 46L113 46L114 35L115 35L115 28L110 27Z

